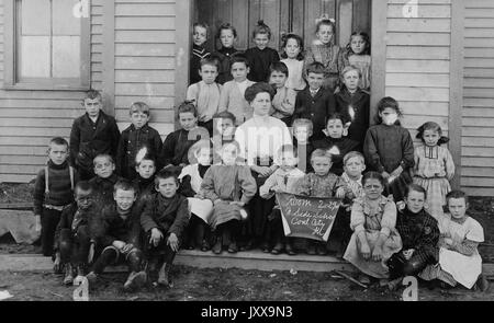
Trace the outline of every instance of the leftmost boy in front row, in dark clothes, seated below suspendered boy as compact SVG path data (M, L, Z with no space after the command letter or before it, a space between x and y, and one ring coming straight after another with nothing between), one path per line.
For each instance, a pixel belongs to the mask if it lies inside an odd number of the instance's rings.
M96 216L91 184L78 182L74 191L76 201L64 208L55 232L54 269L58 272L65 267L64 285L72 284L75 270L75 285L79 285L86 275L90 246L88 223L89 218Z

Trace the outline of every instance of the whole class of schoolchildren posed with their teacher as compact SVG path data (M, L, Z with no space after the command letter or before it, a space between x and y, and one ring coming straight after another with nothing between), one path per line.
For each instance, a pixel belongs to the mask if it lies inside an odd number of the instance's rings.
M177 108L180 129L165 142L145 103L132 104L132 124L120 134L101 111L101 94L89 91L70 146L52 139L35 187L43 253L65 270L64 282L94 282L105 266L126 262L125 289L170 285L180 247L220 254L259 245L293 255L303 245L307 254L336 251L375 278L419 273L472 287L483 230L465 215L464 194L450 193L447 138L425 123L414 148L392 97L379 102L370 126L369 37L353 33L340 49L334 34L333 21L319 21L306 53L289 34L280 60L263 22L252 35L257 47L245 54L233 46L235 28L223 24L214 55L201 47L207 26L195 24L190 79L198 82ZM283 140L262 132L272 127ZM256 141L266 137L270 153L249 153L247 128L257 129ZM276 193L341 198L329 242L287 238Z

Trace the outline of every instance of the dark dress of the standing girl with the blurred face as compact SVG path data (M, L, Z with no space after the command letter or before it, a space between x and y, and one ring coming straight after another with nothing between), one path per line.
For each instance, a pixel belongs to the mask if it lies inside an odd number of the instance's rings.
M414 142L408 130L400 125L374 125L369 128L363 142L363 154L369 171L391 174L398 166L402 174L386 185L385 194L394 200L404 200L406 186L412 183L409 169L414 166Z

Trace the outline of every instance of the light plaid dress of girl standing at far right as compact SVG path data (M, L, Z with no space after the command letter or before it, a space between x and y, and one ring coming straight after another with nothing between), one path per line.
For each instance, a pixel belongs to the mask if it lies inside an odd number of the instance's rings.
M441 146L418 146L414 151L414 183L427 191L426 209L436 219L445 212L446 194L451 191L449 181L454 175L454 163L449 150Z

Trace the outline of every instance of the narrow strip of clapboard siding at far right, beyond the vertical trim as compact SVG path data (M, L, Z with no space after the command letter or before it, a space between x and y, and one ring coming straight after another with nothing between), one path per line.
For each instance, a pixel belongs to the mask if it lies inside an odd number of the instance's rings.
M461 184L494 195L494 3L464 3L464 69Z

